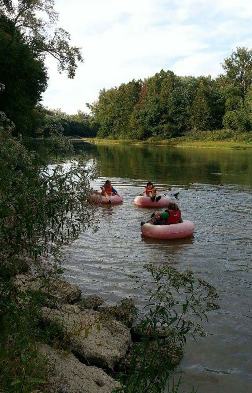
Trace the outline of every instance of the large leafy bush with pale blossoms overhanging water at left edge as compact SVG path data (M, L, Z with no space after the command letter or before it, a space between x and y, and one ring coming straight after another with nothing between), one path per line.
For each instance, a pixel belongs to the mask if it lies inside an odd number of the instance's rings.
M36 259L46 253L57 260L63 245L96 222L86 202L96 169L85 154L68 164L53 156L56 146L61 152L70 149L59 130L52 130L53 149L42 158L28 152L22 139L13 138L12 124L3 114L1 119L0 259L22 253ZM54 165L48 167L48 160Z

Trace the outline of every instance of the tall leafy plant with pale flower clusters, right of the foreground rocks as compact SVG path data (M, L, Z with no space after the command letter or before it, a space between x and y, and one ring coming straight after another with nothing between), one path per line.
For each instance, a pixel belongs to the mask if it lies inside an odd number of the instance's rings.
M147 312L138 325L141 341L134 345L129 370L118 374L122 386L114 393L178 391L180 378L176 385L174 369L182 358L186 338L207 336L200 321L207 321L207 312L219 309L215 288L196 279L190 270L182 273L171 266L153 264L143 267L150 279L130 276L148 296Z

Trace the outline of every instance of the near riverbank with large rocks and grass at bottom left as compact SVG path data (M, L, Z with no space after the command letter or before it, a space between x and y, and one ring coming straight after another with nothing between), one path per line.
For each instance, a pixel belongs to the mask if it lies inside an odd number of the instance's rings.
M109 307L101 296L85 298L79 286L62 278L62 269L48 270L43 260L34 264L28 257L14 257L5 267L10 277L0 283L6 306L0 332L0 381L6 393L9 385L27 393L35 388L41 393L111 393L121 386L114 379L118 371L129 376L132 362L136 369L142 367L135 353L143 335L149 343L145 349L149 360L157 345L154 339L165 343L167 330L147 330L136 323L131 298ZM164 349L162 357L173 371L184 350L170 344Z

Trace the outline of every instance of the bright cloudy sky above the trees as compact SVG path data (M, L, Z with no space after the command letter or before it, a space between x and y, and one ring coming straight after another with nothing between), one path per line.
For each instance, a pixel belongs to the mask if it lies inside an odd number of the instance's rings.
M80 46L74 79L46 58L43 105L74 114L99 90L163 70L212 75L237 46L252 49L251 0L55 0L58 25Z

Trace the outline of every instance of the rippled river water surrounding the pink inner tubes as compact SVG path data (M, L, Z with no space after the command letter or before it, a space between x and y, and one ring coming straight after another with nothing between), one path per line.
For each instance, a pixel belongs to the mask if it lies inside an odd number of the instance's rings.
M251 392L252 151L88 143L76 147L99 167L101 177L94 186L112 180L123 193L123 203L96 208L101 228L84 233L72 245L65 263L68 279L81 286L84 295L101 294L108 304L132 296L141 307L144 299L127 274L144 275L142 263L193 270L216 287L221 309L208 316L207 338L188 340L180 391L194 386L202 393ZM142 237L140 222L155 209L137 208L134 197L147 181L180 193L176 202L182 218L195 223L193 237Z

